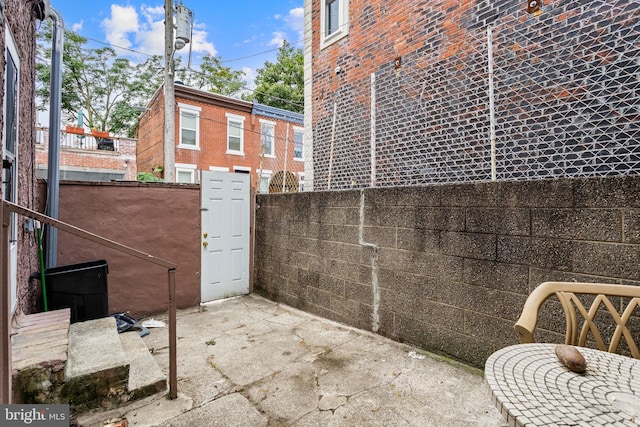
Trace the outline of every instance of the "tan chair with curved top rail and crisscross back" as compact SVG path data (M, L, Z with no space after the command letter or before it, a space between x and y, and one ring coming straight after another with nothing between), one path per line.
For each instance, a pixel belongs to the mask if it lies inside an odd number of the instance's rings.
M635 314L640 316L640 286L611 285L604 283L577 283L577 282L545 282L534 289L527 298L522 309L522 314L515 324L515 329L520 335L520 343L534 342L534 332L538 321L538 311L542 304L552 295L555 295L564 309L567 322L565 344L584 347L587 336L591 332L593 340L599 350L617 353L620 339L624 337L631 356L640 359L638 344L640 334L633 333L628 328L629 319ZM593 302L587 310L579 299L580 295L592 295ZM618 297L614 302L610 298ZM628 298L622 300L620 297ZM626 306L624 303L627 303ZM605 344L600 329L595 323L597 313L601 313L604 307L615 322L613 334L609 344ZM579 322L579 319L582 319ZM582 323L580 326L579 323Z

